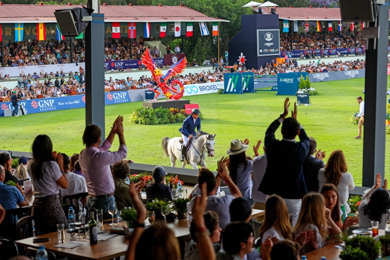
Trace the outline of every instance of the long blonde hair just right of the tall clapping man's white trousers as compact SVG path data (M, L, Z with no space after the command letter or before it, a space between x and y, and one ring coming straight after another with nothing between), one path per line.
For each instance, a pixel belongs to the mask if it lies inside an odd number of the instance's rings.
M323 241L326 241L328 237L328 222L323 213L324 209L325 200L322 194L313 191L307 193L302 199L301 211L299 212L294 232L303 224L313 224L319 230Z

